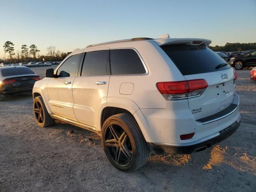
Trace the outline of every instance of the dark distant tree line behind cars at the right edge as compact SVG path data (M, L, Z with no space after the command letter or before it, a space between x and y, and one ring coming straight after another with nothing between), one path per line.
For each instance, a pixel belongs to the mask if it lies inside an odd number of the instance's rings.
M226 43L224 46L208 46L213 51L247 51L256 49L256 43Z

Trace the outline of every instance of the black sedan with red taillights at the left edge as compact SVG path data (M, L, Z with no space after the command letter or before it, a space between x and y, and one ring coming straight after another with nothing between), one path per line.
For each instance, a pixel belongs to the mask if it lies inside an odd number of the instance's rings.
M0 68L0 101L6 96L32 92L34 83L40 80L30 68L24 66L8 66Z

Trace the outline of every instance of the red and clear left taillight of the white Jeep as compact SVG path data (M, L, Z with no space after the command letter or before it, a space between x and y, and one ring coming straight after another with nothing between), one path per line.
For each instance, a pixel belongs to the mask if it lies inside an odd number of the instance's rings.
M195 79L156 83L158 91L166 100L180 100L200 96L208 87L206 80Z

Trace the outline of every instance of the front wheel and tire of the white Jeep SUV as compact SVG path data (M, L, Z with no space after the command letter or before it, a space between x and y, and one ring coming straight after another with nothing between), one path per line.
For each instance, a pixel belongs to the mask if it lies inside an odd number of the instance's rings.
M36 123L40 127L48 127L54 124L55 120L47 112L42 96L34 98L33 112Z

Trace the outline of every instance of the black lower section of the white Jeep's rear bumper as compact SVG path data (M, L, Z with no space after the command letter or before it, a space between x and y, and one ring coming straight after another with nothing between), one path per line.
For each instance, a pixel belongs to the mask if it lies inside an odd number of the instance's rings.
M196 142L184 143L178 146L172 146L171 144L148 143L148 146L150 147L150 150L152 150L155 154L191 154L194 151L204 150L228 138L238 129L238 127L240 126L240 122L241 116L237 121L235 121L227 128L219 131L216 134L213 134L212 136L203 138L202 140Z

